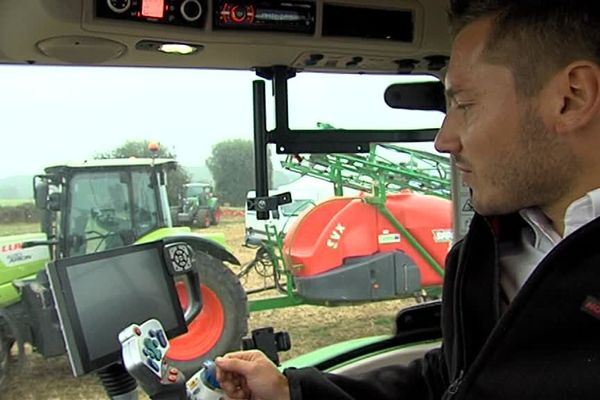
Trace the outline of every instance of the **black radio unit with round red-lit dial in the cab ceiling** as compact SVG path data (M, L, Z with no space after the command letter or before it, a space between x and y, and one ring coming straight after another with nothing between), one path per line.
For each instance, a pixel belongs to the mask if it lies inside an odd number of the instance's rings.
M315 33L315 3L213 0L214 29Z

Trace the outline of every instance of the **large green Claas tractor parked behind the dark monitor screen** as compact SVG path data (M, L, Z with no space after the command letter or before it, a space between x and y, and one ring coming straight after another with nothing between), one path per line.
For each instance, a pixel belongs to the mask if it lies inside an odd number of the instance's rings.
M239 349L247 331L247 298L224 262L239 265L223 235L172 227L167 199L169 159L93 160L48 167L34 178L42 232L0 238L0 380L11 346L30 343L46 357L65 353L49 290L37 282L49 259L145 243L186 241L199 259L203 307L188 332L171 341L169 361L197 370L206 358ZM110 290L110 288L105 288ZM178 285L187 306L185 285ZM53 333L53 334L52 334Z

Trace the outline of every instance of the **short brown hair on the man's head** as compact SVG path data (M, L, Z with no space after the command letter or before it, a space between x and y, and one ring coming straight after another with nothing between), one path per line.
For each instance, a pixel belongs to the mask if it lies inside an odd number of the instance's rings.
M484 58L511 68L522 96L574 61L600 64L600 0L450 0L449 13L455 34L492 18Z

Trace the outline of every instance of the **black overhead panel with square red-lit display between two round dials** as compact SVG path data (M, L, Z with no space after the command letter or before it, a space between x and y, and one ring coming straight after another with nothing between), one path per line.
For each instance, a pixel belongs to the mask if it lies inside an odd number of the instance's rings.
M96 16L204 28L207 0L96 0Z

